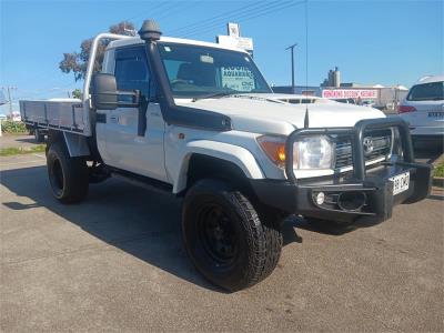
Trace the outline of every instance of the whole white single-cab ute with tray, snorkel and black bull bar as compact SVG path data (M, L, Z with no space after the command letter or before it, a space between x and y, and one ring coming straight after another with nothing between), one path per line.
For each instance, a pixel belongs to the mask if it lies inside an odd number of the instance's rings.
M272 273L286 216L377 222L427 195L431 168L414 162L404 121L356 105L294 104L242 50L161 38L153 21L139 34L94 39L82 101L20 101L27 124L48 130L59 201L81 201L89 183L109 176L183 196L192 262L236 291ZM114 41L93 73L102 39Z

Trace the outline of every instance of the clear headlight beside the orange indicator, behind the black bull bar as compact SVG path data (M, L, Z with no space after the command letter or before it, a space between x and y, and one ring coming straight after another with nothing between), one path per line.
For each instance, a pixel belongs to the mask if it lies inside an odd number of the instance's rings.
M333 169L334 143L325 135L304 137L293 143L294 169Z

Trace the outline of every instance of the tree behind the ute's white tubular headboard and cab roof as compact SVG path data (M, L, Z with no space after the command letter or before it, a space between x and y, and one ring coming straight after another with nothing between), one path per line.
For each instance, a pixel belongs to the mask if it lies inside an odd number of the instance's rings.
M131 22L122 21L118 24L111 26L109 32L117 34L132 36L134 24ZM80 44L80 52L63 53L63 59L59 63L59 68L63 73L73 73L74 80L83 80L87 72L88 60L90 58L91 44L93 38L85 39ZM109 44L110 40L102 40L99 44L95 61L94 71L100 71L103 62L104 50Z

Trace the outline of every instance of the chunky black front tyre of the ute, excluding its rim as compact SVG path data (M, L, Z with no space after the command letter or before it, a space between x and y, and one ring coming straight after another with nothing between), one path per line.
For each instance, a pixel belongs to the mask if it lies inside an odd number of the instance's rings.
M225 271L219 270L215 263L202 256L199 238L194 235L199 232L196 211L203 209L209 198L224 206L231 216L235 216L233 223L238 223L238 238L242 240L242 253ZM278 225L261 221L248 198L216 180L199 181L183 203L182 232L192 262L208 280L229 291L250 287L273 272L282 249L282 233Z

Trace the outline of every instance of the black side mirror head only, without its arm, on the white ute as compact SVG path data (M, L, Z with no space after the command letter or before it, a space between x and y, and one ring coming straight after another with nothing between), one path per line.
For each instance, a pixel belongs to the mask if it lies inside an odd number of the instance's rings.
M118 108L118 85L113 74L97 73L92 77L91 104L97 110Z

